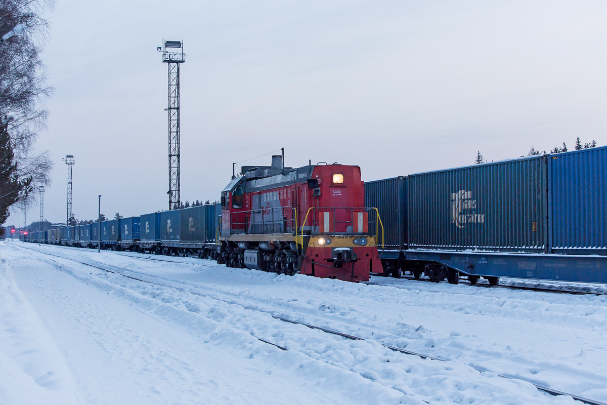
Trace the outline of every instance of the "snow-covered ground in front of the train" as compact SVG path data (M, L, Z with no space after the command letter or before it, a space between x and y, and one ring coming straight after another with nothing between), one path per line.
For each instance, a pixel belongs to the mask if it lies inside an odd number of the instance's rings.
M10 242L0 259L0 404L579 403L526 381L607 402L607 296Z

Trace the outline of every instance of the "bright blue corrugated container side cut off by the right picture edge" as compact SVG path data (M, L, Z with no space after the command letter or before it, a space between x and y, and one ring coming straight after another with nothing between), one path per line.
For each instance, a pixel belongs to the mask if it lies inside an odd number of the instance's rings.
M607 147L549 157L552 253L607 254Z

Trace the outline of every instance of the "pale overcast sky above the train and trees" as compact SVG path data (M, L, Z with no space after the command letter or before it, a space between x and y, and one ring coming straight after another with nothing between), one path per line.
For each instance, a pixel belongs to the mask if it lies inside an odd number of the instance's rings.
M607 144L605 1L56 0L55 95L37 148L44 217L168 208L168 72L184 41L181 199L216 200L232 162L361 166L364 180ZM268 165L270 156L246 164ZM39 218L39 206L27 222ZM22 225L16 211L7 225Z

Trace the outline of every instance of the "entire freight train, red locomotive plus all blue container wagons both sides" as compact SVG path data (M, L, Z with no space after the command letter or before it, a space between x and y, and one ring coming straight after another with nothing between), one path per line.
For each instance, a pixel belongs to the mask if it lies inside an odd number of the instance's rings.
M220 199L25 239L353 282L403 272L452 284L607 282L607 147L373 182L358 166L293 169L274 156L243 166Z

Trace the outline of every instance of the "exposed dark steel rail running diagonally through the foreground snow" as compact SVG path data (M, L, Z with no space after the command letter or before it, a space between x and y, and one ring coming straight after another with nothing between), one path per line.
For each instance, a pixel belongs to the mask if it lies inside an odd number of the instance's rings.
M17 246L19 248L25 248L25 247L22 247L22 246L19 246L19 245L15 245L15 246ZM93 265L93 264L86 263L86 262L81 262L80 260L72 259L70 257L58 256L56 254L47 253L47 252L39 251L39 250L32 249L32 248L25 248L25 249L34 250L34 251L37 251L38 253L47 254L49 256L59 257L60 259L72 260L73 262L76 262L76 263L80 263L80 264L83 264L83 265L86 265L86 266L97 268L99 270L107 271L108 273L117 274L118 276L123 276L123 277L129 278L129 279L141 281L141 282L144 282L144 283L154 284L154 285L158 285L160 287L173 288L173 289L181 291L181 292L191 293L191 294L195 294L195 295L198 295L198 296L203 296L202 294L197 294L197 293L194 293L192 291L186 291L183 288L174 287L172 285L161 284L161 283L153 282L153 281L147 281L147 280L140 279L138 277L128 276L126 274L119 273L118 271L108 270L107 268L99 267L97 265ZM133 257L133 256L131 256L131 257ZM55 262L55 263L61 264L59 262L56 262L56 260L52 260L52 261ZM161 260L161 261L171 261L171 260ZM178 263L178 262L174 262L174 263ZM123 269L123 270L127 270L128 271L128 269ZM240 304L234 304L234 302L229 302L229 301L226 301L226 300L223 300L223 299L220 299L220 298L209 297L209 296L205 296L205 297L206 298L215 299L216 301L225 302L226 304L229 304L229 305L240 305ZM260 313L267 313L268 315L272 316L272 318L278 319L279 321L289 322L291 324L302 325L302 326L305 326L305 327L308 327L308 328L311 328L311 329L320 330L320 331L325 332L325 333L330 333L330 334L333 334L333 335L342 336L342 337L347 338L347 339L358 340L358 341L364 341L364 340L366 340L365 338L360 338L358 336L348 335L346 333L338 332L336 330L331 330L331 329L324 328L324 327L319 327L319 326L315 326L315 325L306 324L305 322L295 321L293 319L283 318L281 316L274 315L270 311L263 311L263 310L259 310L259 309L256 309L256 308L245 307L244 305L240 305L240 307L245 308L246 310L257 311L257 312L260 312ZM260 342L276 346L280 350L285 350L285 351L288 350L287 348L282 347L280 345L277 345L277 344L274 344L272 342L268 342L266 340L260 339L257 336L253 335L252 333L249 333L249 335L253 336L254 338L256 338L257 340L259 340ZM378 342L378 341L376 341L376 342ZM422 359L432 359L432 360L437 360L437 361L447 361L445 359L439 359L439 358L436 358L436 357L432 357L432 356L428 356L428 355L423 355L421 353L416 353L416 352L411 352L409 350L399 349L398 347L394 347L394 346L391 346L391 345L388 345L388 344L384 344L382 342L378 342L378 343L381 344L382 346L384 346L387 349L393 350L395 352L400 352L400 353L403 353L405 355L417 356L417 357L422 358ZM468 366L472 367L473 369L475 369L478 372L491 372L491 370L481 369L479 367L473 367L473 366L470 366L470 365L468 365ZM538 389L540 391L543 391L543 392L546 392L546 393L549 393L549 394L554 395L554 396L571 396L571 398L573 398L574 400L577 400L577 401L580 401L580 402L583 402L583 403L589 404L589 405L607 405L607 403L603 403L601 401L596 401L596 400L590 400L589 398L585 398L585 397L580 396L580 395L574 395L574 394L571 394L571 393L567 393L567 392L555 390L555 389L552 389L552 388L540 386L538 384L532 383L531 381L527 381L526 379L523 379L523 378L520 378L520 377L509 376L509 375L504 375L504 374L496 374L496 375L499 376L499 377L501 377L501 378L519 379L521 381L525 381L526 383L532 384L536 389ZM426 401L424 401L424 402L426 402Z

